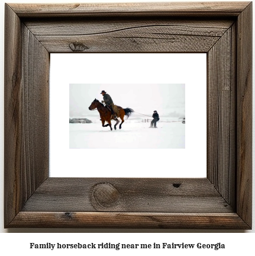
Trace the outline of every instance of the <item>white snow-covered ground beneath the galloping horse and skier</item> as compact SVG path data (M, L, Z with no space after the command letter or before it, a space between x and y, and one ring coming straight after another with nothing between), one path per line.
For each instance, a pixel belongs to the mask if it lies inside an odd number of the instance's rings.
M69 124L70 149L184 149L185 124L182 122L158 122L157 129L149 129L150 123L125 120L122 129L112 131L99 123Z

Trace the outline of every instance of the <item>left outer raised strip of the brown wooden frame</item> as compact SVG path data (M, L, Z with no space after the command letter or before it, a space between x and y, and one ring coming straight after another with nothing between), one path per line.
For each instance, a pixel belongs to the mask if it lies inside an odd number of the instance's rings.
M22 207L21 200L21 23L5 5L4 76L4 210L11 222Z

